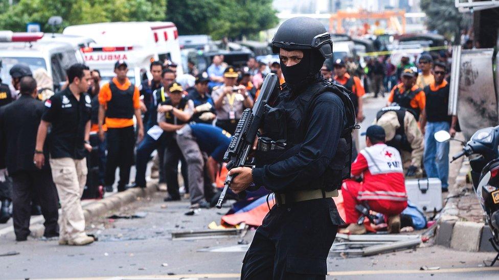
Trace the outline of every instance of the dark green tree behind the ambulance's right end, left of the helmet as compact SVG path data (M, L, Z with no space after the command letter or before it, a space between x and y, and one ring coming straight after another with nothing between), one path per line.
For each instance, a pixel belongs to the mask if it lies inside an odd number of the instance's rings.
M167 20L183 35L239 39L279 23L271 0L168 0Z

